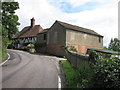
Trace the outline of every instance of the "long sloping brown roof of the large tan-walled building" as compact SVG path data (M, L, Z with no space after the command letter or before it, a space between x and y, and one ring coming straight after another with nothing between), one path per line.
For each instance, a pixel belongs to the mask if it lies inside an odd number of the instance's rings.
M76 25L68 24L68 23L65 23L65 22L57 21L57 20L56 20L56 22L61 24L66 29L75 30L75 31L79 31L79 32L103 37L102 35L96 33L95 31L87 29L87 28L79 27L79 26L76 26Z

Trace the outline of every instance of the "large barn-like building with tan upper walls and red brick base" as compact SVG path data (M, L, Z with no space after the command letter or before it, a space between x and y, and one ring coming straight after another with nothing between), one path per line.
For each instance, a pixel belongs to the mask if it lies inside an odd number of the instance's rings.
M74 46L78 52L86 53L87 48L103 48L103 36L93 30L71 25L61 21L55 23L47 30L38 33L38 43L46 43L39 48L40 52L55 55L64 55L61 46Z

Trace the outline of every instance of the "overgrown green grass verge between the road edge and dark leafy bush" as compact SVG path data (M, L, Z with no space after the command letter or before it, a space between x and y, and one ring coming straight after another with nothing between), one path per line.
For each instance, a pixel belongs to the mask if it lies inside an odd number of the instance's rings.
M81 62L78 69L74 69L66 60L60 61L60 65L65 73L67 88L89 88L91 87L92 68L88 62Z

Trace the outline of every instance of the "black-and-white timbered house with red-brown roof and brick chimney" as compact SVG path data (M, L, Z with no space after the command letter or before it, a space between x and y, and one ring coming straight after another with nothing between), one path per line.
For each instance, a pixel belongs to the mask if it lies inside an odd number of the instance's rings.
M19 33L12 38L12 45L14 48L23 48L24 45L35 43L37 34L44 29L40 25L35 25L35 19L31 19L30 26L24 27Z

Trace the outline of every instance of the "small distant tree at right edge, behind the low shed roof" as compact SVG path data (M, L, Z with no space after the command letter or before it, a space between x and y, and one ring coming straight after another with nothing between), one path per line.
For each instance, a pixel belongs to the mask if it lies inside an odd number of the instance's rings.
M117 38L111 39L108 48L120 52L120 40Z

